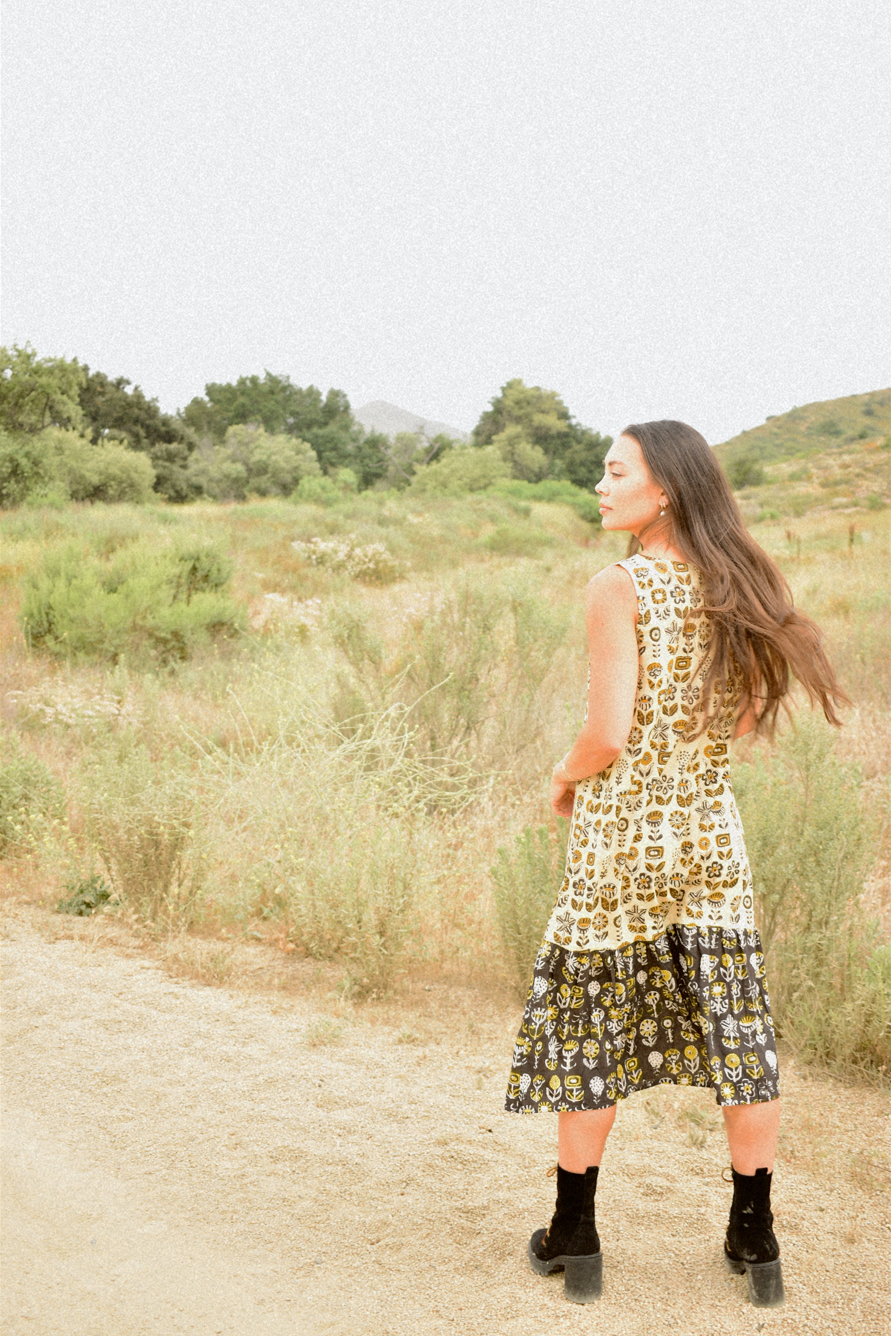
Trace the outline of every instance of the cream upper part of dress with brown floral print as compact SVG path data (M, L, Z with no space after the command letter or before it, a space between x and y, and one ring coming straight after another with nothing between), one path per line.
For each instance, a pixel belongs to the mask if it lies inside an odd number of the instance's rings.
M751 930L752 875L731 788L739 693L693 737L711 625L695 566L617 562L637 591L637 696L628 741L576 786L566 871L545 939L573 951L652 941L672 923Z

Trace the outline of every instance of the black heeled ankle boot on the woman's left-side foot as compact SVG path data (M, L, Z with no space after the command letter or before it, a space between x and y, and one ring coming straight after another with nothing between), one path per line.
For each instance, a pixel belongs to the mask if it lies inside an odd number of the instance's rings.
M600 1299L602 1256L594 1222L598 1166L569 1173L557 1166L557 1209L548 1229L529 1240L529 1261L540 1276L562 1271L564 1293L573 1304Z

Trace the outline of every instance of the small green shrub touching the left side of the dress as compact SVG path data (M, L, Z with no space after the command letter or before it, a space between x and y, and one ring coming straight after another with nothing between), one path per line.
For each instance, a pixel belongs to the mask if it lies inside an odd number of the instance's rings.
M562 818L556 828L526 826L512 848L498 850L490 868L508 974L524 994L562 882L568 836Z

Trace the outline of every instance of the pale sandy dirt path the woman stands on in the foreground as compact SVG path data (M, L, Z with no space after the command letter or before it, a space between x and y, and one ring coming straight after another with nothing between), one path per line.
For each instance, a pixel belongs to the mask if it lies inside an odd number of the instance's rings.
M776 1312L721 1263L713 1104L631 1100L598 1189L604 1299L580 1309L525 1261L554 1124L501 1112L516 1017L472 1055L361 1015L311 1047L318 1006L175 981L35 923L13 915L3 947L7 1336L887 1331L878 1094L785 1065Z

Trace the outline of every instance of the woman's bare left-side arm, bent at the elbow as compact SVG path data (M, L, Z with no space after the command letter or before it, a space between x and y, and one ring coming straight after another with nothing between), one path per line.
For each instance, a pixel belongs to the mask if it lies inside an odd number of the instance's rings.
M628 741L637 695L637 595L621 566L605 566L588 584L585 621L590 653L588 720L554 767L550 806L570 816L576 782L612 764Z

